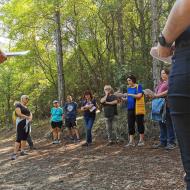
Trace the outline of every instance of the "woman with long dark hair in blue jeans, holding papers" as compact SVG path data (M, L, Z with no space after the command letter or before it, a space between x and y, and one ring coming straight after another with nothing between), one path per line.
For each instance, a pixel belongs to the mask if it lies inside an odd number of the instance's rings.
M93 99L90 91L84 93L81 111L84 112L86 128L86 142L82 146L90 146L92 144L92 127L96 117L96 100Z

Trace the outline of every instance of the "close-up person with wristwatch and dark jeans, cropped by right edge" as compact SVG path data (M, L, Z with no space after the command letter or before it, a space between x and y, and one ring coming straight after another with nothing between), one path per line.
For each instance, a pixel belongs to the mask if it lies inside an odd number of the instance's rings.
M168 102L190 190L190 0L176 1L158 41L160 57L174 54Z

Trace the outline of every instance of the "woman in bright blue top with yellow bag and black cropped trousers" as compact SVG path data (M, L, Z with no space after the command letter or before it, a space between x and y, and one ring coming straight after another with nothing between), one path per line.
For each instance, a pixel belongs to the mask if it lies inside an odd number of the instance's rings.
M145 115L145 101L143 95L143 89L140 84L136 83L136 77L130 75L127 77L127 93L126 95L126 107L127 107L127 118L128 118L128 132L129 132L129 143L125 147L134 147L135 140L135 122L137 123L137 129L139 133L139 142L137 146L144 146L144 115Z

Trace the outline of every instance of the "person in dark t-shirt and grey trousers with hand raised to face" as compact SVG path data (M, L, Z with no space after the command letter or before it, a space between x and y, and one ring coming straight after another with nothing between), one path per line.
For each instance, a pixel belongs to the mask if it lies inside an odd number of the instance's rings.
M114 125L117 121L117 97L113 94L113 89L110 85L104 86L105 95L101 98L100 102L103 105L104 116L106 121L106 130L108 134L108 145L113 144L114 135L113 127L115 128L116 137L115 140L118 140L116 126Z

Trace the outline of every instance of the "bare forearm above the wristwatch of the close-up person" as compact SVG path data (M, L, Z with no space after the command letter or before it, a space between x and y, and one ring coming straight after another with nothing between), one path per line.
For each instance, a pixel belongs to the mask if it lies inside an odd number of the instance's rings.
M174 42L188 26L190 26L190 1L177 0L163 30L166 41Z

